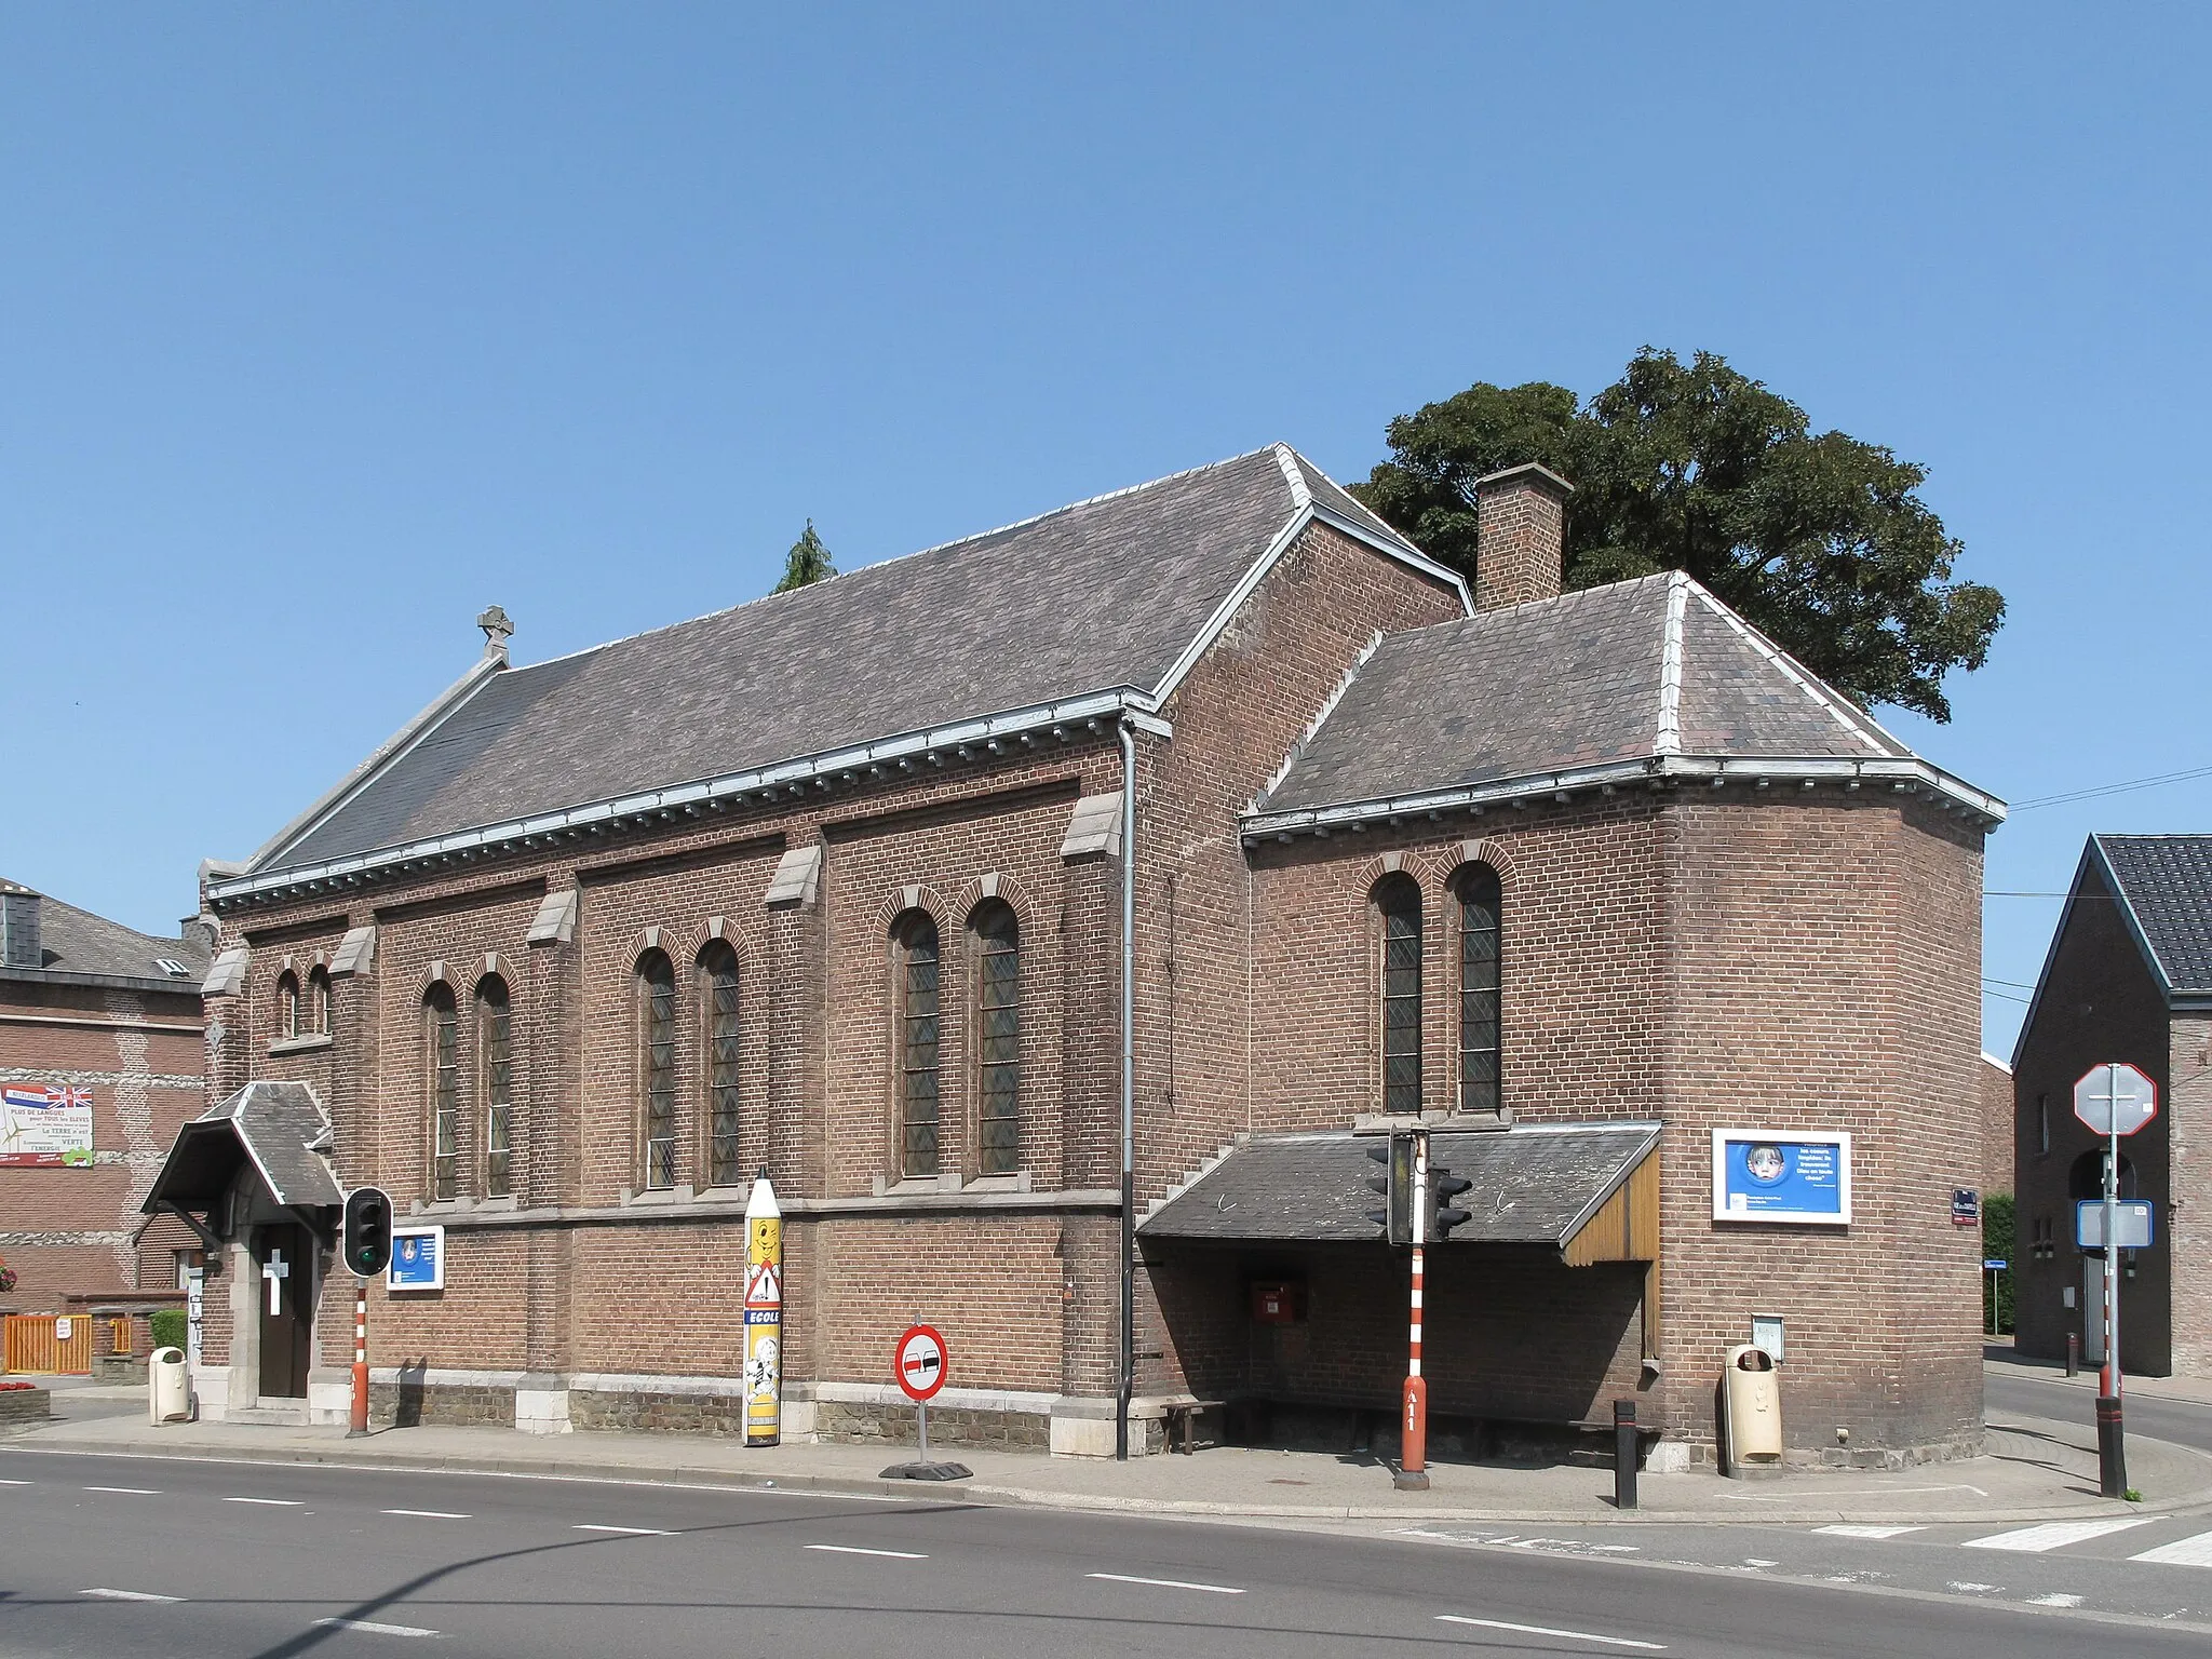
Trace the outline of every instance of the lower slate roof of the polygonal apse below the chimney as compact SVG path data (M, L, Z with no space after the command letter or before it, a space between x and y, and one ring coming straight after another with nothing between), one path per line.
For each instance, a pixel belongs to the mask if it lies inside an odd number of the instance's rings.
M1385 637L1254 812L1659 754L1911 759L1681 573Z

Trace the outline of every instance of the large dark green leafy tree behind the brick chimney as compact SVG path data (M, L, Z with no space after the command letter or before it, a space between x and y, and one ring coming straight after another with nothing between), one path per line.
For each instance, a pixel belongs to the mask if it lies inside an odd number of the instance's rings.
M1588 403L1533 380L1471 385L1398 416L1354 493L1462 575L1475 480L1540 460L1575 484L1566 586L1688 571L1860 703L1951 719L1942 679L1980 668L2004 597L1953 582L1960 542L1913 491L1927 469L1840 431L1710 352L1644 347Z

